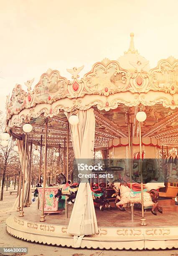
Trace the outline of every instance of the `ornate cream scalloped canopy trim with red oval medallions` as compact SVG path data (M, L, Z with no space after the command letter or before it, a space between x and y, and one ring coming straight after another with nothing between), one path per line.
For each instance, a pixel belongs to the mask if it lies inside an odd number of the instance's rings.
M71 81L61 77L57 70L48 69L33 90L34 79L25 83L27 91L20 84L15 85L11 97L7 98L7 119L13 115L17 118L19 113L18 120L23 113L33 117L41 113L53 116L59 110L71 111L74 106L81 110L97 106L106 111L120 104L151 106L160 103L165 108L178 107L178 60L172 57L159 61L149 72L137 68L131 73L120 67L119 62L104 59L79 79L82 68L67 70L72 74Z

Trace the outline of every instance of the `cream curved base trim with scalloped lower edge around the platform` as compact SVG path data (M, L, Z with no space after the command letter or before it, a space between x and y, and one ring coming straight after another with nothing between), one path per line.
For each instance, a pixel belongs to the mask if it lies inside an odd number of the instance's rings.
M10 216L6 230L15 238L32 243L74 248L67 225L40 223ZM171 249L178 248L178 226L165 227L99 227L99 234L84 236L80 248L94 249Z

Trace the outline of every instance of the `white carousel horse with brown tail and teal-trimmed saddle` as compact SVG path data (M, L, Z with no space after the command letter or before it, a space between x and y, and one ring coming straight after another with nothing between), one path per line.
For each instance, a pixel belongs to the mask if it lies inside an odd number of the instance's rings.
M138 183L132 184L132 189L130 188L130 184L122 179L118 179L114 181L114 188L120 189L120 202L116 203L116 206L120 208L120 206L125 205L127 203L140 203L141 204L141 185ZM156 190L160 188L160 183L147 183L144 184L143 188L143 204L145 207L152 206L151 212L154 215L157 215L156 208L160 213L163 213L161 208L158 206L158 197L159 192ZM154 188L153 188L154 187Z

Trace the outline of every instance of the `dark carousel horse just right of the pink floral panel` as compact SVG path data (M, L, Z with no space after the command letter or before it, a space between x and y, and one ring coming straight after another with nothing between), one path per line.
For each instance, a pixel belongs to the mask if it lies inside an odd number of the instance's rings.
M74 203L76 198L76 193L78 191L79 183L73 183L71 180L66 180L64 174L58 174L56 177L58 181L58 193L55 197L58 197L58 200L61 200L63 195L68 196L68 201Z

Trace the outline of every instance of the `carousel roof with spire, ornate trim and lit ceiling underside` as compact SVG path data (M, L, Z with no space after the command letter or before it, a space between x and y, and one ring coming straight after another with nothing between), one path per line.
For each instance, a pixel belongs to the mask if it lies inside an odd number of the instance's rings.
M28 139L40 143L48 117L48 145L63 146L67 136L64 112L74 107L94 108L96 117L95 147L107 147L109 140L128 136L127 114L132 134L138 136L135 118L141 104L147 114L142 123L142 136L157 138L161 145L178 145L178 60L173 57L158 62L150 69L149 61L138 54L131 33L130 47L118 61L104 59L79 79L80 68L67 69L71 80L57 70L48 69L32 89L34 79L16 84L7 97L6 130L22 138L23 123L33 125ZM44 136L43 136L44 137ZM70 145L71 146L71 141Z

